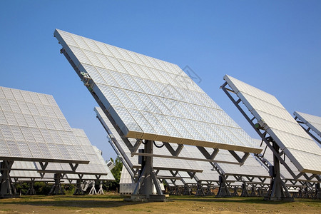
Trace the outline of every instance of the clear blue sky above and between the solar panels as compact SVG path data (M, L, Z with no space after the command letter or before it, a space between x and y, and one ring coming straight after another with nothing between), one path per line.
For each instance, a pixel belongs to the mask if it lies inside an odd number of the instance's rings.
M321 116L321 1L0 1L0 86L54 96L103 157L116 153L96 102L54 29L186 65L199 86L250 136L253 129L219 87L229 74L293 111Z

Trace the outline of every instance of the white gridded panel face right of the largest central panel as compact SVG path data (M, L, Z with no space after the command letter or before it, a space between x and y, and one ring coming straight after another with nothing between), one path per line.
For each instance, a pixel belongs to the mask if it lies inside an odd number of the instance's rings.
M231 76L224 79L300 172L321 173L321 148L275 96Z

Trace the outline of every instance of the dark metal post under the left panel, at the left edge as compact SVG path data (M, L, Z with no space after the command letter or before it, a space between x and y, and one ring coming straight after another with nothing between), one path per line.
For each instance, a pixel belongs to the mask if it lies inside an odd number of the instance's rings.
M2 161L1 163L1 186L0 186L0 198L12 198L14 197L15 188L11 183L10 171L14 161Z

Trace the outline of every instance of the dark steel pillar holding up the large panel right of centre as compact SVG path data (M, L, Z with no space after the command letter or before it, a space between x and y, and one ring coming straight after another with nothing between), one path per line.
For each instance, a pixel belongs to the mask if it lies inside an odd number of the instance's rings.
M277 143L272 141L273 149L280 153L280 147L277 146ZM270 168L270 174L271 174L271 183L270 183L270 189L267 192L267 195L264 197L265 200L290 200L293 201L293 198L291 197L290 193L287 191L287 188L285 187L285 184L281 180L280 176L280 161L273 154L273 166Z

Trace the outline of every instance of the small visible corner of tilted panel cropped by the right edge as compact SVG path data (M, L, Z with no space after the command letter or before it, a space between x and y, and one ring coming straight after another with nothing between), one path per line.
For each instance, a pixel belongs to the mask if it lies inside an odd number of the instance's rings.
M321 117L295 111L295 121L315 140L321 144Z

